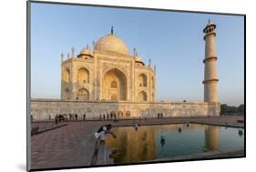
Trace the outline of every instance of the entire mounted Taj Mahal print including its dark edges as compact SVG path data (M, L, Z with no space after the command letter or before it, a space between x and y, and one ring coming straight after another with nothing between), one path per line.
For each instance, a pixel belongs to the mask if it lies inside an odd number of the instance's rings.
M27 171L246 157L246 15L26 5Z

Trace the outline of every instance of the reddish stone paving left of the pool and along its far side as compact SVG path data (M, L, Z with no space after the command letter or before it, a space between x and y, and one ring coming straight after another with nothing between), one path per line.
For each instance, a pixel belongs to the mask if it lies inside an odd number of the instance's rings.
M138 120L140 125L158 125L174 123L205 123L215 125L243 126L237 123L243 116L227 117L177 117ZM111 123L113 126L130 126L133 120L77 121L67 122L67 126L56 128L31 137L31 168L85 167L112 164L108 158L110 149L100 147L97 157L94 155L94 133L99 126ZM105 157L103 157L105 155Z

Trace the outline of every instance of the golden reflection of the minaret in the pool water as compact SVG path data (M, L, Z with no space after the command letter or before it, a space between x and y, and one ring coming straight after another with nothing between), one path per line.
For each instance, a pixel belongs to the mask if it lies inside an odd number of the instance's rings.
M204 128L204 150L219 150L219 126L205 126Z

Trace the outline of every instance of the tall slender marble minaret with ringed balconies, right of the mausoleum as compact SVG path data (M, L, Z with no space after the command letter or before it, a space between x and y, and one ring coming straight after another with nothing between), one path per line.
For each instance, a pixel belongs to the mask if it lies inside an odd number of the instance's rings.
M215 50L215 28L216 25L210 22L203 29L205 34L205 56L204 56L204 102L218 102L219 79L216 72L216 50Z

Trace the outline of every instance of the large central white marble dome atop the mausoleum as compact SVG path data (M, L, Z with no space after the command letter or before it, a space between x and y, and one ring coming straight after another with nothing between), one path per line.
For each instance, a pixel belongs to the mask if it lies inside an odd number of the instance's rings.
M95 49L98 51L118 52L123 55L128 55L128 46L117 35L109 34L101 37Z

